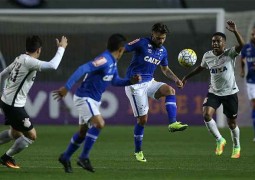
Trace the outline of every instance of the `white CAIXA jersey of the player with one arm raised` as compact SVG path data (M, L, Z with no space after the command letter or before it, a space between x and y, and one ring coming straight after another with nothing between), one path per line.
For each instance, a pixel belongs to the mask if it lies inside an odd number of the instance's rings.
M239 91L234 71L236 56L235 47L226 49L219 56L214 55L213 51L204 54L201 66L210 70L210 93L227 96Z

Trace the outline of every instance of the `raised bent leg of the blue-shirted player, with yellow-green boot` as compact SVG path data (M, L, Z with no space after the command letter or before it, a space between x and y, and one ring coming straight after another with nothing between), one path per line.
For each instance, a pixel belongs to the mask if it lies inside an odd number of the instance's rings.
M160 99L165 97L165 107L168 115L169 126L168 130L170 132L183 131L188 125L182 124L176 120L177 116L177 105L176 105L176 95L175 90L162 82L151 81L151 84L148 89L149 97L154 99Z

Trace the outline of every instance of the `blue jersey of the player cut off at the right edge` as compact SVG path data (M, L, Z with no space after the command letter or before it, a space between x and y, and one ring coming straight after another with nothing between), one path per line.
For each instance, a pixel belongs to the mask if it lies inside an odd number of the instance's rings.
M244 45L241 57L246 59L248 69L246 76L247 83L255 84L255 47L252 43Z

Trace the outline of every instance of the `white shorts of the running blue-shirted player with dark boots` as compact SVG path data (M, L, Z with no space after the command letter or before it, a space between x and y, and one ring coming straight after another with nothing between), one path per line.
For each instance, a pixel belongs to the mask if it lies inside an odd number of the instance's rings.
M95 101L89 97L73 96L74 106L79 114L79 125L89 124L91 117L100 115L99 108L101 102Z

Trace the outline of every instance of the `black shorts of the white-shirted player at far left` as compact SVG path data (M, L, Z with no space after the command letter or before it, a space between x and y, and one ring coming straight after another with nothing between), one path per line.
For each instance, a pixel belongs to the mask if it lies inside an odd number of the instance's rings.
M14 130L28 132L34 128L24 107L13 107L4 103L2 110L6 121Z

